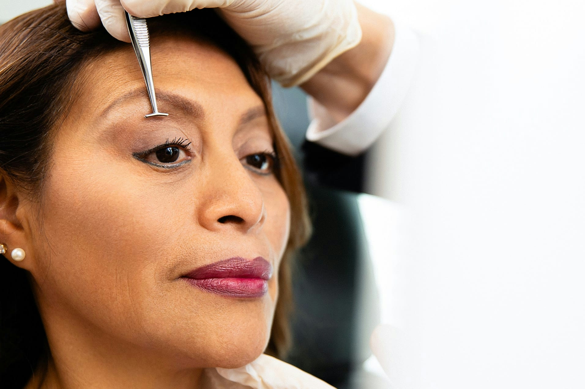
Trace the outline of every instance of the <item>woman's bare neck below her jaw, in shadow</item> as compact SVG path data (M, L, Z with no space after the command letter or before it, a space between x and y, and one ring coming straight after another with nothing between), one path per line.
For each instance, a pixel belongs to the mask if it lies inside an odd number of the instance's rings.
M50 355L26 389L202 387L203 369L174 356L112 339L87 323L47 321Z

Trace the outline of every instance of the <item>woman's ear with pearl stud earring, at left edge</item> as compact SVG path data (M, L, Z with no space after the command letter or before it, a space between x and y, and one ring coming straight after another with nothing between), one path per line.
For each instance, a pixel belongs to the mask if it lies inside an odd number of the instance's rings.
M28 247L30 239L24 228L27 223L22 220L26 214L23 206L28 203L13 180L0 172L0 243L8 248L4 257L18 267L30 270L32 261L26 261L23 257L23 254L26 256L27 249L32 251ZM13 254L15 248L20 250Z

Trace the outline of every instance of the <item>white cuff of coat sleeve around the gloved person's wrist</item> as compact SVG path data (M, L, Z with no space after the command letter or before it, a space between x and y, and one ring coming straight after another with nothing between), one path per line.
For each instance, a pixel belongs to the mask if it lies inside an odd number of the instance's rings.
M408 92L419 55L415 32L397 23L394 29L394 46L380 79L345 120L336 122L325 107L309 97L308 141L355 156L366 151L388 128Z

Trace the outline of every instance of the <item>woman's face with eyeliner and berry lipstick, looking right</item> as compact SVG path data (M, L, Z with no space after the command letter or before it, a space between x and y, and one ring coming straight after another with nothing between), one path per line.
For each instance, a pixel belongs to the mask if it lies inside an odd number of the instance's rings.
M168 117L144 118L152 108L128 45L84 68L56 132L27 251L47 335L185 367L242 366L269 339L289 231L273 135L219 49L165 37L152 55ZM197 277L231 278L188 278L228 258Z

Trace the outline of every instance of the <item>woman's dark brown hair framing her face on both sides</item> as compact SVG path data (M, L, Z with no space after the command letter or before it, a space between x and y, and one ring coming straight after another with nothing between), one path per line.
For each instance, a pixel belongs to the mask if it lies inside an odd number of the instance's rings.
M280 292L266 350L284 357L290 343L291 256L307 241L310 226L302 180L274 115L269 79L252 49L213 10L165 15L150 23L153 34L168 25L228 53L266 107L280 162L277 177L291 204L291 233L278 274ZM64 5L37 9L0 26L0 174L5 179L22 185L33 199L42 197L51 134L71 105L76 74L88 60L123 44L103 28L90 33L73 28ZM29 277L9 261L0 261L0 381L4 387L25 385L50 352Z

